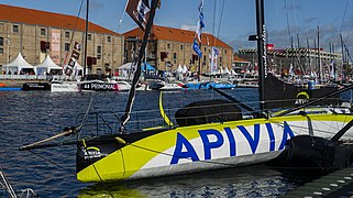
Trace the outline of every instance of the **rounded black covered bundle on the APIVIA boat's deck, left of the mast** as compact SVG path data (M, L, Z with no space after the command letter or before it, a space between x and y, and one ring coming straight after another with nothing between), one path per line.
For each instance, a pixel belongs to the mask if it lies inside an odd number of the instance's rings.
M175 113L180 127L242 119L241 109L227 100L203 100L185 106Z

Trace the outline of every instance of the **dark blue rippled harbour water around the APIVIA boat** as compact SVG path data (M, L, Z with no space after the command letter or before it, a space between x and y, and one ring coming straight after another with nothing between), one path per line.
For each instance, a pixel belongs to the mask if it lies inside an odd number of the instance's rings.
M228 92L241 101L257 99L256 89ZM40 197L276 197L304 180L257 165L107 185L82 184L76 180L75 146L18 151L75 125L76 116L86 112L90 101L90 111L122 111L126 97L128 92L0 91L0 166L13 188L32 188ZM139 92L133 110L158 109L158 97L155 91ZM211 98L221 96L179 91L165 92L163 99L167 109ZM7 194L0 190L2 195Z

